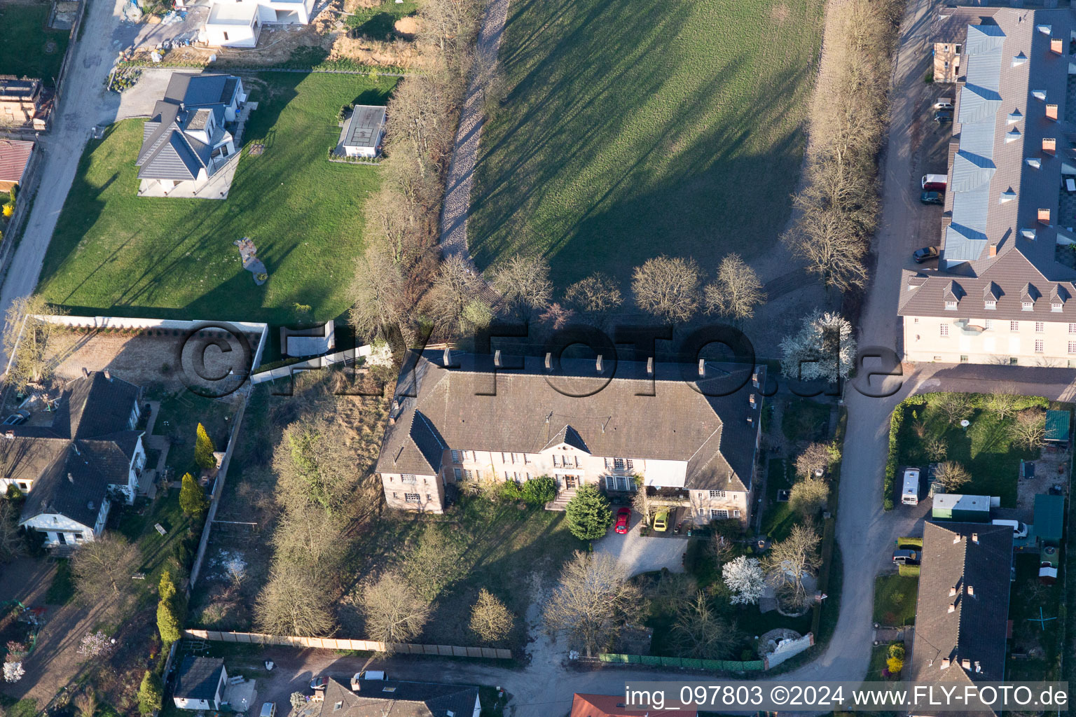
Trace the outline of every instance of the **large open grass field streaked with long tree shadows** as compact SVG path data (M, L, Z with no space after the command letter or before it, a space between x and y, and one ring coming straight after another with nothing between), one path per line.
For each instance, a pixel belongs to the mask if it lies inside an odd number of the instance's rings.
M468 240L485 268L546 255L567 285L664 252L712 270L789 217L821 0L524 0L483 129Z

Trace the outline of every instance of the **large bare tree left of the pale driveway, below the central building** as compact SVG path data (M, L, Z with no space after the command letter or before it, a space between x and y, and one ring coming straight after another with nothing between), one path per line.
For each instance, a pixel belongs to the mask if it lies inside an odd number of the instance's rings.
M547 630L570 634L590 657L612 640L621 623L638 614L640 598L615 558L576 551L561 570L542 619Z

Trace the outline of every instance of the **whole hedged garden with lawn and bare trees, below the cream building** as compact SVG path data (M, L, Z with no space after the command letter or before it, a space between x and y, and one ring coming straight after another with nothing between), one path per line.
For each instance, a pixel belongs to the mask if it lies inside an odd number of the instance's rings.
M1020 462L1038 458L1048 406L1042 397L1010 392L908 397L890 425L886 510L900 502L904 467L920 468L946 492L996 496L1015 507Z

